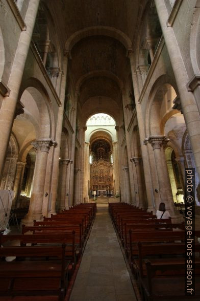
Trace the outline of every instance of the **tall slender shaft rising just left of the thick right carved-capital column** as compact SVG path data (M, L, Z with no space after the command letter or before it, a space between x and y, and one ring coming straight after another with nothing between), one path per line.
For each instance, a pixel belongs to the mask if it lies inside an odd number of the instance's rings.
M137 120L138 120L138 128L139 128L139 135L140 135L140 143L145 139L145 129L144 129L144 122L142 119L142 110L141 105L138 102L140 96L140 89L141 84L138 82L138 70L135 70L135 61L134 61L134 54L132 51L129 52L130 64L131 64L131 73L132 73L132 81L134 87L134 95L135 95L135 104L136 104L136 111L137 111ZM151 170L149 167L148 162L148 154L146 146L141 143L141 153L142 153L142 162L144 168L144 179L145 179L145 186L146 186L146 197L148 203L148 212L154 210L154 200L152 196L152 177L151 177Z

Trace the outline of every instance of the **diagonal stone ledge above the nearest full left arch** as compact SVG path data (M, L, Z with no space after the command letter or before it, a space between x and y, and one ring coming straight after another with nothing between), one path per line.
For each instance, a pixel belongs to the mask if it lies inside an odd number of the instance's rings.
M56 90L55 90L55 88L54 88L54 85L53 85L51 79L50 79L49 76L48 76L48 73L47 73L47 71L46 71L46 68L44 67L43 61L42 61L42 59L41 59L41 57L40 57L40 55L39 55L39 53L38 53L38 51L37 51L37 48L36 48L36 46L35 46L35 44L34 44L33 41L31 42L30 48L31 48L31 50L32 50L32 53L33 53L33 55L34 55L34 57L35 57L35 59L36 59L38 65L39 65L39 67L40 67L40 70L41 70L41 72L42 72L44 78L45 78L46 81L47 81L47 84L48 84L49 89L52 91L52 94L53 94L54 97L55 97L55 100L56 100L57 104L58 104L59 106L62 106L62 103L61 103L61 101L60 101L60 99L59 99L59 97L58 97L58 94L57 94L57 92L56 92Z

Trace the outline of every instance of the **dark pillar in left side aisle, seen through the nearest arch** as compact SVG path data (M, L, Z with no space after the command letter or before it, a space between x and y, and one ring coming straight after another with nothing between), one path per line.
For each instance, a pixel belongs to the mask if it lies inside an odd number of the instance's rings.
M17 162L16 174L15 174L15 182L14 182L14 191L15 191L15 198L13 200L13 207L17 207L17 201L20 197L21 192L21 184L23 180L23 173L24 167L26 163L24 162Z

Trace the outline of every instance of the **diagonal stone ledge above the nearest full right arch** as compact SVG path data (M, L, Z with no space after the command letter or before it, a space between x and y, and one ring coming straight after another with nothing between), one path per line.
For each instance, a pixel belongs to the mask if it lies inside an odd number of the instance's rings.
M152 61L152 64L148 70L148 73L147 73L147 76L146 76L146 80L144 82L144 85L143 85L143 88L142 88L142 91L140 93L140 96L139 96L139 99L138 99L138 103L141 103L142 102L142 98L146 92L146 89L148 88L148 85L149 85L149 81L152 79L152 75L154 73L154 70L156 68L156 65L157 65L157 62L160 58L160 55L162 53L162 50L165 46L165 40L164 40L164 37L162 36L160 38L160 41L159 41L159 44L158 44L158 47L156 49L156 52L155 52L155 55L154 55L154 59Z

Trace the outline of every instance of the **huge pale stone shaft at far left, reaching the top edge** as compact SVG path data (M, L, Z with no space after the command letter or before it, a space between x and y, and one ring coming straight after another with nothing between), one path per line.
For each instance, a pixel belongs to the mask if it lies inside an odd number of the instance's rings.
M0 176L3 173L7 147L9 144L13 121L15 118L14 115L19 88L30 47L39 2L40 0L31 0L29 2L29 7L24 19L27 29L23 30L20 34L18 46L14 55L12 70L7 84L8 88L10 89L10 95L4 97L0 111L0 128L2 137L0 144Z

